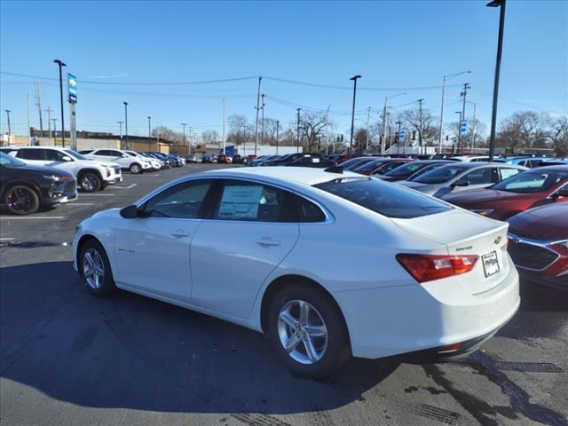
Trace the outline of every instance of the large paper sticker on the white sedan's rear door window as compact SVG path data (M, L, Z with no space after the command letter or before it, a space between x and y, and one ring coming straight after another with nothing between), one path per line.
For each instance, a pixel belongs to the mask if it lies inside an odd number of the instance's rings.
M218 217L222 219L256 219L263 196L262 185L225 186Z

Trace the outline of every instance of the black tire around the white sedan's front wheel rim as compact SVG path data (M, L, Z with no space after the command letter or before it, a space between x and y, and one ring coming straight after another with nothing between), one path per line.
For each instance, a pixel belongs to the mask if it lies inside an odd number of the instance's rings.
M97 262L97 257L93 256L93 253L99 255L99 261ZM91 262L86 259L87 254L91 255L91 259L94 261L94 264L99 266L102 264L103 266L103 278L102 280L96 280L94 275L99 276L98 274L94 274L91 276L92 280L90 280L90 273L88 272ZM107 297L111 296L114 291L116 290L116 286L114 285L113 279L113 271L110 267L110 262L108 262L108 256L106 256L105 248L100 244L99 241L91 239L85 241L83 247L81 248L81 253L79 254L79 258L77 259L77 267L81 274L81 277L84 280L85 287L91 295L98 296L98 297Z

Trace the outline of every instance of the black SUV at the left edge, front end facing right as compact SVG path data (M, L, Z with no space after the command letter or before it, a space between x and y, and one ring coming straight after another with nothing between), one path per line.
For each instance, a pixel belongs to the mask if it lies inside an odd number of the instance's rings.
M0 200L14 215L29 215L41 207L77 198L77 182L67 171L30 166L0 153Z

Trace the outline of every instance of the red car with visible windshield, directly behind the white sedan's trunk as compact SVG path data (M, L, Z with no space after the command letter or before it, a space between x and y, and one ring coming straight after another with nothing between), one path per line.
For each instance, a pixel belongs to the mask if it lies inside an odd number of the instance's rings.
M488 188L448 193L442 199L482 216L507 220L526 209L568 200L568 165L539 167Z

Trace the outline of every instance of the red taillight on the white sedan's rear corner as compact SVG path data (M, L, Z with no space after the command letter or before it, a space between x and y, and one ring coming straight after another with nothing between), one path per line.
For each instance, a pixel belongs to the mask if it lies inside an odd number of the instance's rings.
M440 280L469 272L478 258L479 256L474 255L397 255L398 263L418 282Z

